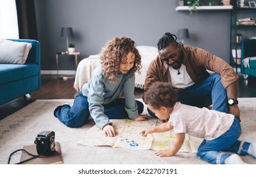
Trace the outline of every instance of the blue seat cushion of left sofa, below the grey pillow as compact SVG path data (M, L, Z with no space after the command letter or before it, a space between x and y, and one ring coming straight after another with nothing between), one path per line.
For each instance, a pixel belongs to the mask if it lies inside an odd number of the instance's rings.
M0 64L0 85L29 78L39 73L37 64Z

